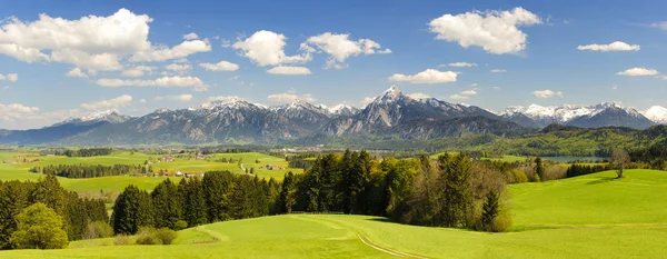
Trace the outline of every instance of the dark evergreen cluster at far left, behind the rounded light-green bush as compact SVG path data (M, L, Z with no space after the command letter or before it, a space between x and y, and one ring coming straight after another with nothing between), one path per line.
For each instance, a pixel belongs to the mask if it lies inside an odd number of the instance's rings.
M109 216L101 199L82 199L67 191L53 175L37 182L0 181L0 249L11 249L11 235L18 230L17 217L34 203L44 203L62 218L68 240L79 240L89 222L108 222Z

